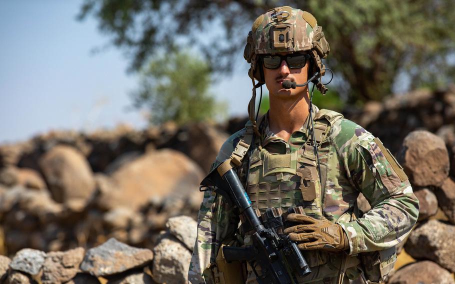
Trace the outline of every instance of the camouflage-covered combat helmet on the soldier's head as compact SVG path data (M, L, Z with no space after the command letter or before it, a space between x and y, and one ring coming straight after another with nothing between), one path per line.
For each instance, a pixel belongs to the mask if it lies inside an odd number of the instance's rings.
M315 67L322 71L320 58L325 58L330 51L322 27L309 12L282 6L256 18L248 33L243 57L251 63L249 76L263 83L263 75L256 66L257 54L305 50L310 50Z

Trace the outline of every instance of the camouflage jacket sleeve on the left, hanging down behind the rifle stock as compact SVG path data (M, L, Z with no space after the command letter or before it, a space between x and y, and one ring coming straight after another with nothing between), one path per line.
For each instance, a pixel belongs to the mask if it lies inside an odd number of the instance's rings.
M235 138L239 133L224 142L211 169L229 157L233 145L238 142ZM224 197L209 187L204 192L197 215L197 236L189 264L189 283L214 283L211 267L215 264L218 248L224 240L235 234L238 222L238 216Z

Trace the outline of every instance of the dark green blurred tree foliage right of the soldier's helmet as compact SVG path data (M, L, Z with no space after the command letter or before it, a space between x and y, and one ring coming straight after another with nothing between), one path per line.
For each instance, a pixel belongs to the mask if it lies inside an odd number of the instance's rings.
M455 51L452 0L328 1L307 7L324 28L327 65L347 82L351 101L380 100L400 72L411 88L453 81Z

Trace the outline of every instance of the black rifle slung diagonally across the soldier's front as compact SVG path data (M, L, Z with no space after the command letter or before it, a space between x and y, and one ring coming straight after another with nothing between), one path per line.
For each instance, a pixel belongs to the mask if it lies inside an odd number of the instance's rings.
M224 162L210 171L200 182L200 188L213 186L215 192L238 208L239 214L253 230L251 246L223 247L225 259L228 262L247 261L253 268L259 284L291 284L297 282L295 274L299 276L309 274L311 270L295 242L289 240L287 235L279 235L276 223L268 221L268 227L261 223L237 174L232 168L227 171L223 169L223 164ZM272 214L270 212L272 211L268 210L266 214ZM255 269L256 265L261 268L260 275Z

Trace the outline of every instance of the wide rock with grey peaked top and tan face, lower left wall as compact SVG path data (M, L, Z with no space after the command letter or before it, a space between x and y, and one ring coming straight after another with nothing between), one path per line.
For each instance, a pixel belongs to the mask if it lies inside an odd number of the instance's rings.
M109 238L103 244L87 250L80 269L91 275L108 276L145 266L152 259L153 252L149 249L132 247Z

